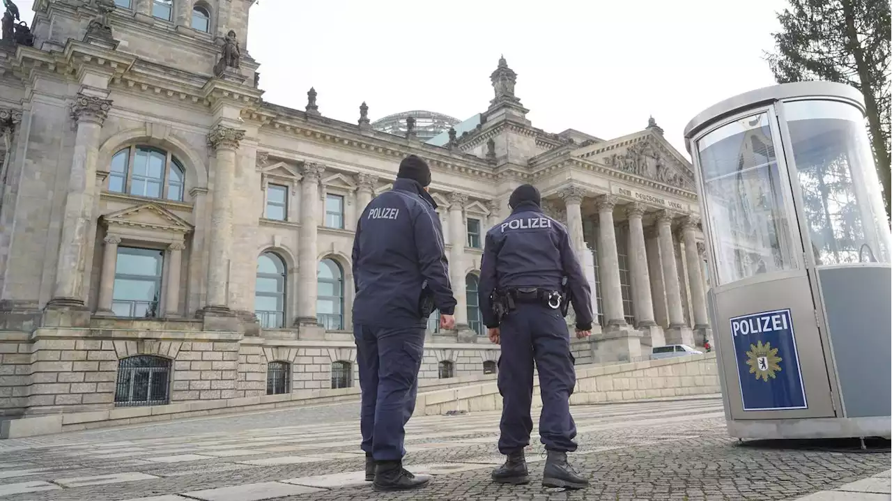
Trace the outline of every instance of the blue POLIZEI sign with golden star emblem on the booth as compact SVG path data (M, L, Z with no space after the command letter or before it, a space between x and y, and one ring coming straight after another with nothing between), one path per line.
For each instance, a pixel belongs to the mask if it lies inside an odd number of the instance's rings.
M789 309L731 318L731 339L743 410L808 408Z

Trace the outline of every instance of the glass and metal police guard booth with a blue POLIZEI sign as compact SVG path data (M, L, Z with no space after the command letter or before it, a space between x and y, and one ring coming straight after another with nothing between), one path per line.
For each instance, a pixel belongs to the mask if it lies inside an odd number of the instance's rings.
M732 437L892 435L892 237L855 88L740 94L685 128Z

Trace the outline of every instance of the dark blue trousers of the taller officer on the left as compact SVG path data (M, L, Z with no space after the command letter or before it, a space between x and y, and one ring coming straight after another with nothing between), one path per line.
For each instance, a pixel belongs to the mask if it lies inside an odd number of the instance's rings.
M362 450L376 461L401 460L405 426L415 411L425 328L354 324L353 337L362 390Z

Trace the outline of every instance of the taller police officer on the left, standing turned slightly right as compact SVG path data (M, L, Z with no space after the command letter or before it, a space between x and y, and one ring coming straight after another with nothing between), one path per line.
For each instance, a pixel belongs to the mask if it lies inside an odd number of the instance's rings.
M442 328L451 329L456 304L430 184L425 161L406 157L393 189L363 210L353 241L359 426L366 480L376 490L417 489L428 481L402 467L405 425L415 410L427 317L437 308Z

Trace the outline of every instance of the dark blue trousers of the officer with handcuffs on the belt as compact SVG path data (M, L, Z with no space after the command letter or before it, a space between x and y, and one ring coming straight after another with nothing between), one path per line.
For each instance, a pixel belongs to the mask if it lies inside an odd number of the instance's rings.
M557 309L518 303L500 325L499 392L502 396L499 451L509 454L530 444L533 420L533 360L539 369L542 412L539 435L547 450L576 450L576 424L570 395L576 384L570 334Z

